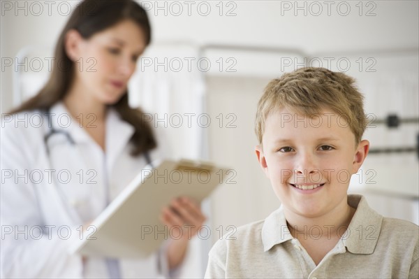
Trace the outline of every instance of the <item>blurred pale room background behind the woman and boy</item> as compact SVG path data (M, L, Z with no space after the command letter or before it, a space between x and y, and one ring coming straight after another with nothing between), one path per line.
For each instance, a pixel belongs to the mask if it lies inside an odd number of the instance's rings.
M45 83L78 2L1 1L1 113ZM272 78L303 66L347 73L365 94L373 151L350 192L419 223L418 1L139 3L153 43L131 79L131 105L166 128L173 157L230 169L203 203L210 236L195 240L183 276L201 276L217 239L280 206L254 154L256 103Z

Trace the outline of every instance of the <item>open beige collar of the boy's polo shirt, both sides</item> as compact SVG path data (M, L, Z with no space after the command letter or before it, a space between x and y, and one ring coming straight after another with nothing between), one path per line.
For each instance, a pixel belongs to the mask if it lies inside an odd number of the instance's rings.
M368 203L364 196L348 195L348 204L357 208L349 223L346 233L341 236L344 246L354 254L372 254L381 231L383 216L379 215ZM275 231L277 233L272 234ZM263 223L262 243L264 251L270 250L274 245L293 240L286 224L282 206L271 213Z

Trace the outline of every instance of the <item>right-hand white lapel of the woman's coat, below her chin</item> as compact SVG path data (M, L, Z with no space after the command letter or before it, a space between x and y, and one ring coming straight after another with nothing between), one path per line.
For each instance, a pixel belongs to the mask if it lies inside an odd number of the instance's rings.
M119 114L110 108L106 117L106 143L105 153L108 173L112 173L112 168L118 156L122 154L124 148L134 134L134 127L121 119Z

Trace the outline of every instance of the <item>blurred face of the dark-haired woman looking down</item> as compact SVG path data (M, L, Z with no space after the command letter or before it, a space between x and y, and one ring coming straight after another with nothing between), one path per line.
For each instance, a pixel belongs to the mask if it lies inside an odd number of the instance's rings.
M119 101L146 47L142 29L124 20L75 45L74 89L103 104Z

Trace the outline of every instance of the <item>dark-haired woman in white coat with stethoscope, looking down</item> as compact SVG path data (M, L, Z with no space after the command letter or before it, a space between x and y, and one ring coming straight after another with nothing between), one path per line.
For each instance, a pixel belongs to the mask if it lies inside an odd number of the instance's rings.
M144 260L68 252L166 147L128 106L128 79L150 40L135 1L82 1L61 32L50 80L3 117L2 278L164 278L182 266L188 234ZM191 224L195 235L205 217L183 197L162 208L161 220Z

